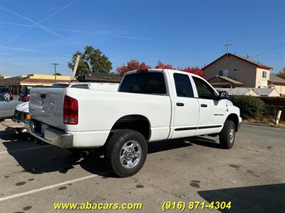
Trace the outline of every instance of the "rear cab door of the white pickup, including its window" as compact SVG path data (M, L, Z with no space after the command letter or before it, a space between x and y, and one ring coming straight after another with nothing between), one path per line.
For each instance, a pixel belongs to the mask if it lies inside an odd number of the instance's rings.
M171 138L194 136L199 120L199 102L194 97L190 75L174 72L172 94L174 100L174 123ZM175 87L174 87L175 85Z

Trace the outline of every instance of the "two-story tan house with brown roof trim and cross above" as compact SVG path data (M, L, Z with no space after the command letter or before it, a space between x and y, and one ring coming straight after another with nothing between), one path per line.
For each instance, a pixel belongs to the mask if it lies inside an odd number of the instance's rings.
M272 67L247 57L226 53L202 68L214 87L267 88Z

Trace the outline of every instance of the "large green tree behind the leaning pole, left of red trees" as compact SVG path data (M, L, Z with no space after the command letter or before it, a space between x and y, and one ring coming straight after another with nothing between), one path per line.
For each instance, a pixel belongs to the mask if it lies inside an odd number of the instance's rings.
M108 73L112 70L112 62L105 56L99 49L95 49L92 46L86 46L84 53L76 51L73 54L71 62L68 62L68 67L73 70L76 63L77 55L81 58L78 63L78 74L90 73L90 72L105 72Z

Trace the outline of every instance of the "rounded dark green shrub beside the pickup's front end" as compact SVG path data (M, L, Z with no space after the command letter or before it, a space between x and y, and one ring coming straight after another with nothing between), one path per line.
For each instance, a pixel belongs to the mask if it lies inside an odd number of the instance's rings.
M265 111L264 102L258 97L233 95L229 99L234 106L239 107L244 119L261 119Z

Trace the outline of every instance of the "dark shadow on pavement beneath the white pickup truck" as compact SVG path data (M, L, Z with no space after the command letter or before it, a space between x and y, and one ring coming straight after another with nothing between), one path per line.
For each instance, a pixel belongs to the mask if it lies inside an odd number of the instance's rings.
M0 138L5 140L4 146L19 163L15 166L21 166L24 169L23 173L41 174L55 171L67 173L68 170L74 168L74 165L80 165L81 168L90 173L110 177L110 174L106 173L108 169L105 166L104 158L96 153L91 153L88 158L81 159L78 154L72 154L65 148L49 146L48 144L35 145L34 138L30 137L28 133L14 136L13 141L11 141L11 134L9 133L0 135ZM148 153L192 146L189 141L202 144L201 139L198 140L197 138L191 138L187 141L185 139L157 141L148 144Z

